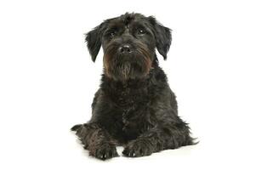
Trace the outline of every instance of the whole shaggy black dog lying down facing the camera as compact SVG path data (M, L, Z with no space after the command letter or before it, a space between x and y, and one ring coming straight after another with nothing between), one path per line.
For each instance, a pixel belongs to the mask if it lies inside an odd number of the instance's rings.
M194 144L156 58L156 48L167 58L171 39L170 29L142 14L105 20L88 32L93 61L103 47L104 73L91 120L71 130L91 156L118 156L117 145L124 156L137 157Z

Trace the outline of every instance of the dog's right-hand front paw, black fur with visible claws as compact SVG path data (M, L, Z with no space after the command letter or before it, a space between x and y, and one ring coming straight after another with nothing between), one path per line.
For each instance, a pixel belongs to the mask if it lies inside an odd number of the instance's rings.
M124 148L122 154L128 157L150 156L153 150L145 139L133 140Z

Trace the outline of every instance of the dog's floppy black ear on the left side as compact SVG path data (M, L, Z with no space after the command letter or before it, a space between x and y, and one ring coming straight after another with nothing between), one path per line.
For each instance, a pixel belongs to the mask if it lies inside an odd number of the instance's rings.
M96 26L92 31L89 31L85 37L85 41L87 42L87 47L93 61L95 61L100 51L104 26L105 23L100 24L100 26Z

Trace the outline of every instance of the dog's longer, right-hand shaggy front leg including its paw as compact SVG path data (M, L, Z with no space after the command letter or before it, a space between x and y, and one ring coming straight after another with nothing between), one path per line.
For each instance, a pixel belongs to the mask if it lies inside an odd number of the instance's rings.
M153 127L130 141L122 154L129 157L150 156L160 150L176 149L188 144L193 144L193 141L186 123L181 122L179 125L167 123L161 127Z

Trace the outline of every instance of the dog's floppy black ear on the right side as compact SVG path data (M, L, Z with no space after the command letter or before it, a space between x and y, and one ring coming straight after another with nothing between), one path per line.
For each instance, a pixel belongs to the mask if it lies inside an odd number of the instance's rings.
M172 42L171 29L162 26L153 16L148 17L152 25L152 30L156 38L156 48L163 59L167 59L168 50Z

